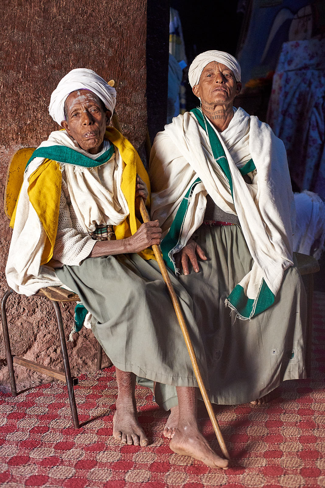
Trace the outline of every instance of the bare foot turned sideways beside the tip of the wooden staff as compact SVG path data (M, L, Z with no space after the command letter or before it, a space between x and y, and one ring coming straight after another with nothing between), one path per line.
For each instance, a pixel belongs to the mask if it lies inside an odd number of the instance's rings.
M177 454L199 459L210 468L228 469L229 461L215 453L193 424L178 425L169 447Z

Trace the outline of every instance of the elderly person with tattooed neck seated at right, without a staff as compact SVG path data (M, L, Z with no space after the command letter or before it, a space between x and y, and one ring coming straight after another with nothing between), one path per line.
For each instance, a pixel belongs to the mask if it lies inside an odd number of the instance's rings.
M189 81L200 107L174 118L152 147L151 217L165 262L193 299L211 401L259 404L283 380L306 376L286 152L266 123L233 107L241 89L233 56L200 54ZM171 409L164 435L175 439L175 388L156 384L155 397Z

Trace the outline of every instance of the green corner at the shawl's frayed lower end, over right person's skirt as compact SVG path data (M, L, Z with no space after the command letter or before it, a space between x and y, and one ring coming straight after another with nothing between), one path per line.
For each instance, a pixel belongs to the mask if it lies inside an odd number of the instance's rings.
M235 286L227 300L231 308L236 310L240 318L247 320L264 312L264 310L273 305L275 295L271 292L263 278L256 300L247 298L244 288L240 285Z

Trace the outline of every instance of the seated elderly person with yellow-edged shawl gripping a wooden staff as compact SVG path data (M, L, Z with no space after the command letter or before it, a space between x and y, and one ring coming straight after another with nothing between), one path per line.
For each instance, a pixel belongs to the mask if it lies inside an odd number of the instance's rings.
M177 452L227 468L199 433L192 391L197 382L158 264L158 221L141 224L136 198L149 202L148 175L132 145L107 127L115 90L88 69L74 69L54 90L50 114L64 130L52 132L27 163L11 221L8 284L35 294L67 286L92 316L91 328L116 366L119 388L113 436L146 446L137 418L136 375L174 385L180 413ZM204 347L193 303L175 276L201 373ZM171 347L177 344L177 348Z

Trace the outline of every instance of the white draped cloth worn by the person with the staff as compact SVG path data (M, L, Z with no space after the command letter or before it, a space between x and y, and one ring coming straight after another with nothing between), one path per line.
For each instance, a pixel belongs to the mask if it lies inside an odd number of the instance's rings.
M65 131L52 132L38 147L53 145L70 147L91 159L102 154L87 153ZM43 162L43 158L35 158L24 174L6 265L8 285L27 296L46 286L62 285L53 268L40 265L46 234L27 193L30 176ZM116 147L115 158L95 168L60 164L65 170L73 209L86 232L94 231L97 225L117 225L125 220L128 206L121 191L124 163ZM90 245L89 252L92 247Z

